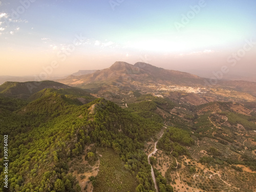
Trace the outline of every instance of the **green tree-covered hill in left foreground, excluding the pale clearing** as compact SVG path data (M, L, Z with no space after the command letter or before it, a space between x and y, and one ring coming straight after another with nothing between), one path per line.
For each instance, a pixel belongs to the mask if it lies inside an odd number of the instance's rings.
M1 140L8 135L10 160L9 188L1 182L2 190L80 191L75 175L69 172L69 162L94 144L113 148L138 178L138 188L154 191L143 145L163 124L104 99L83 104L75 97L67 91L46 89L36 93L31 102L1 98ZM3 159L0 168L3 170ZM4 179L3 172L0 177Z

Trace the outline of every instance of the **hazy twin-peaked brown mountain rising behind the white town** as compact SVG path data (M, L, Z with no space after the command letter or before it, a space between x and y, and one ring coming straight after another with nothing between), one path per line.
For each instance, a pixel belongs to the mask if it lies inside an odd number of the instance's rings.
M110 68L98 70L92 74L69 76L65 79L59 79L58 82L68 84L75 87L92 87L94 83L95 87L102 85L112 85L116 83L122 84L134 84L136 82L147 83L178 83L178 84L204 84L203 78L192 75L189 73L165 70L152 66L147 63L137 62L135 65L131 65L127 62L115 62ZM90 84L90 86L86 86Z

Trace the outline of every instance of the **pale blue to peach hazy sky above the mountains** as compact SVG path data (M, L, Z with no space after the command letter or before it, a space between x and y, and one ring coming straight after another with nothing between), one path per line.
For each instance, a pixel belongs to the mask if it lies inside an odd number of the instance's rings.
M256 76L255 53L255 0L0 0L0 75L142 61L207 77L223 66Z

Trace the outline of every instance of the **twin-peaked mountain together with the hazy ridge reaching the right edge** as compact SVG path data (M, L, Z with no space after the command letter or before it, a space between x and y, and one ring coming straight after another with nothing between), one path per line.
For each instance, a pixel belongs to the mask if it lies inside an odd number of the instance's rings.
M108 89L113 86L123 89L140 89L141 86L152 84L156 86L157 84L164 84L165 86L224 87L256 96L256 82L220 79L217 84L211 85L207 78L180 71L166 70L143 62L131 65L127 62L117 61L110 68L97 70L91 74L70 75L57 81L72 87L91 90Z

